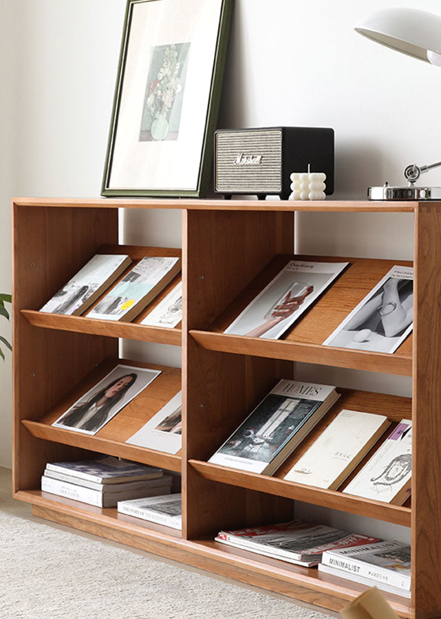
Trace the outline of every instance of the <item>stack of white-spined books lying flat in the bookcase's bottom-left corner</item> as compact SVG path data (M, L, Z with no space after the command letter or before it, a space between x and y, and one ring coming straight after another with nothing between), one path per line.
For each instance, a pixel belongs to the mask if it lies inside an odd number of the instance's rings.
M41 490L100 508L122 499L154 497L171 492L171 475L160 468L114 457L76 462L50 462L41 477Z

